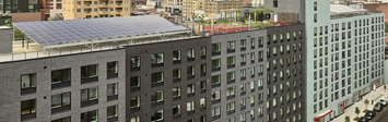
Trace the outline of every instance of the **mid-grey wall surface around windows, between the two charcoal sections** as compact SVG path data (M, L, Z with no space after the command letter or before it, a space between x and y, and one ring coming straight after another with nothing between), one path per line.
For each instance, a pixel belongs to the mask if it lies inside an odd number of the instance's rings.
M246 122L260 122L266 120L267 109L264 108L267 97L266 97L266 70L264 62L267 58L264 53L267 52L267 45L262 44L260 46L258 38L262 38L266 40L266 29L261 30L249 30L249 32L239 32L239 33L231 33L223 35L213 35L212 45L221 44L221 54L213 54L212 60L221 59L221 70L216 71L212 69L212 76L221 75L221 85L213 84L212 91L221 91L221 101L216 102L212 101L212 108L221 107L220 117L212 117L212 121L215 122L226 122L228 119L235 119L235 121L240 120L240 114L245 113ZM246 50L242 49L240 40L246 40ZM251 39L254 39L254 47L251 44ZM227 41L235 41L235 51L227 51ZM263 57L258 57L259 51L262 51ZM242 63L240 58L242 54L246 56L246 63ZM255 60L251 60L251 54L255 54ZM235 66L227 65L227 57L235 57L236 63ZM259 73L259 66L262 66L262 73ZM245 76L242 76L242 70L245 70ZM251 71L254 70L254 74ZM235 82L227 81L227 73L235 72ZM262 81L262 86L260 87L258 81ZM246 91L242 91L240 85L246 85ZM251 87L252 85L254 87ZM235 97L228 99L226 96L226 88L235 87ZM262 100L259 100L259 94L262 95ZM240 103L242 99L246 99L246 108L240 108L238 103ZM250 102L250 99L254 99L254 102ZM235 111L228 112L226 110L227 103L235 102ZM258 113L258 109L261 108L262 113ZM251 111L254 112L252 118L250 118Z

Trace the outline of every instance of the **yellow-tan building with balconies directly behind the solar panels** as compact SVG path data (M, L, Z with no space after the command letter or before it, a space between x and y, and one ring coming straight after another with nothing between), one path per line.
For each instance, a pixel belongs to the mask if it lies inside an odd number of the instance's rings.
M129 16L130 0L63 0L63 19Z

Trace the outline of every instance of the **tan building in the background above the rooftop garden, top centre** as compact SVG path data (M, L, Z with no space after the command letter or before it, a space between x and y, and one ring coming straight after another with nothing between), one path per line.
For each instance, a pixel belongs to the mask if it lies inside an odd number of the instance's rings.
M183 15L191 17L196 11L204 12L205 16L209 14L221 14L221 10L227 9L242 9L243 1L198 1L186 0L184 1Z

